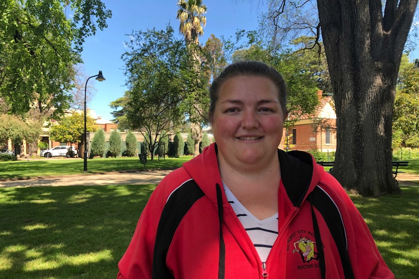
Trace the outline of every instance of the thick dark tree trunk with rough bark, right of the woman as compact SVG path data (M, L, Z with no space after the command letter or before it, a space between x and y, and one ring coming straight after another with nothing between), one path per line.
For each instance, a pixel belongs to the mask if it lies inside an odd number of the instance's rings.
M402 51L418 0L317 0L336 104L333 175L361 195L399 193L392 113ZM398 9L397 9L398 8Z

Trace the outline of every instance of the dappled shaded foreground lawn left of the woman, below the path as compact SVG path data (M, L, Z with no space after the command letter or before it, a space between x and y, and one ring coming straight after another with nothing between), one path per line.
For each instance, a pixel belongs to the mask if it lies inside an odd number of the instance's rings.
M153 189L0 189L0 278L116 278Z

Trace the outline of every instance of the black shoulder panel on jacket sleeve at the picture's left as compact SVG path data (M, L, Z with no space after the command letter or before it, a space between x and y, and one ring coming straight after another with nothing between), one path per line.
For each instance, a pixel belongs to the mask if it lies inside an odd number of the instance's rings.
M201 197L204 197L204 192L193 180L185 182L169 197L157 227L153 254L153 279L174 278L166 267L167 252L180 221Z

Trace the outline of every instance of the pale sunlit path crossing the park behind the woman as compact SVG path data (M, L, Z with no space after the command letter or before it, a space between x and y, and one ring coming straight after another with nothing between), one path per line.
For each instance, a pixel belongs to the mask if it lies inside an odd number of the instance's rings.
M110 184L157 184L172 170L153 170L139 172L112 172L105 174L69 175L40 177L29 180L0 181L1 187L25 186L69 186L69 185L110 185ZM419 181L419 175L399 173L397 180L401 184ZM416 183L415 183L416 184Z

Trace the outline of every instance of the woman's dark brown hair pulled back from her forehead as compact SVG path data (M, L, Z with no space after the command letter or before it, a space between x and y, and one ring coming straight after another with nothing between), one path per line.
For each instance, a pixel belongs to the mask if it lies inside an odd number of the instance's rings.
M223 85L223 83L228 79L246 75L259 76L270 79L278 88L279 103L281 105L284 116L287 114L287 89L282 75L273 67L259 61L239 61L227 66L210 86L210 109L208 113L210 122L212 122L215 104L218 100L220 87Z

